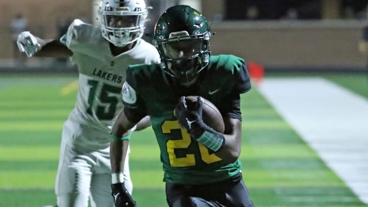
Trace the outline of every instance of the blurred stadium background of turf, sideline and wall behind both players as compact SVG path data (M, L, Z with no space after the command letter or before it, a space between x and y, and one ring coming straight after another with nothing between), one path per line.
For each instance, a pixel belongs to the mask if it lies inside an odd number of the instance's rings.
M146 3L153 6L146 40L151 41L155 19L166 8L188 4L213 23L213 54L234 54L251 63L254 87L242 96L241 160L256 206L367 206L368 73L363 31L368 25L368 0ZM98 0L0 1L2 207L55 204L61 129L75 104L78 76L68 60L20 56L11 22L22 15L33 34L58 38L64 22L75 18L98 25L98 5ZM309 88L302 88L306 85ZM323 117L326 114L328 118ZM305 123L298 122L304 119ZM320 128L313 128L313 123ZM316 143L310 132L325 135ZM135 133L131 143L134 198L140 206L166 206L152 130Z

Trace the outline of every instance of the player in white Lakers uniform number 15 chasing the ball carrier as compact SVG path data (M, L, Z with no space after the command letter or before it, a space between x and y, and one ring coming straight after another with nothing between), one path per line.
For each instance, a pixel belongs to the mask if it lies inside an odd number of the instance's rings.
M132 191L128 162L124 177L111 175L109 134L123 107L121 88L128 65L160 62L157 50L141 38L147 13L144 0L102 0L101 28L75 19L60 40L40 39L28 31L18 36L18 48L28 57L70 57L78 66L77 103L62 131L55 182L58 207L87 207L88 199L91 206L114 206L111 179ZM149 117L144 118L136 130L149 123Z

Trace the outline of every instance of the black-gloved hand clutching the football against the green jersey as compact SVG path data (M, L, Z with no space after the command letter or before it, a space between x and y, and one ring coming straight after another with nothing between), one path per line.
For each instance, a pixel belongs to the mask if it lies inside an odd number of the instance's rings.
M202 98L197 97L197 101L193 105L193 108L188 107L185 96L180 97L179 104L175 107L175 117L178 119L180 126L186 128L188 133L196 139L198 136L195 132L208 126L202 120Z

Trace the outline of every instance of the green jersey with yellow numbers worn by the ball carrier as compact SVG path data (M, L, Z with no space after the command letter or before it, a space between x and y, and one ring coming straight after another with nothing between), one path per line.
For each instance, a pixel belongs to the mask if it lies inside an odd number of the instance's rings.
M230 178L241 170L241 163L228 164L198 143L174 116L180 96L201 96L217 106L226 118L231 111L221 104L229 94L241 94L250 89L249 76L242 59L233 55L211 56L195 90L178 91L169 83L159 64L130 66L123 87L126 107L140 114L135 122L148 114L160 148L164 181L183 185L200 185ZM241 119L241 118L239 118Z

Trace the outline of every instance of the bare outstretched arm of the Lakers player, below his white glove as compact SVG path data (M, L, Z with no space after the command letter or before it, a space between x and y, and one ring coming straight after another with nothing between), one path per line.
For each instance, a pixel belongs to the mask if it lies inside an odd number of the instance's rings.
M59 40L41 39L36 37L37 42L41 45L39 51L34 56L37 57L70 57L73 52L69 50Z

